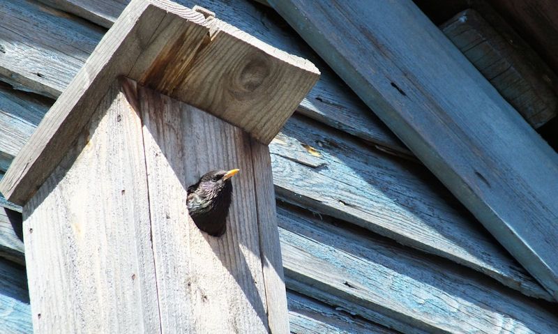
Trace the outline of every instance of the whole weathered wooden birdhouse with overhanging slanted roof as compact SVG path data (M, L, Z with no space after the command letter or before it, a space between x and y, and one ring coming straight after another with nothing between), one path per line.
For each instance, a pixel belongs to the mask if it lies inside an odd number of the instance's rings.
M0 183L36 333L287 333L267 144L318 77L205 10L132 1ZM233 168L209 236L187 188Z

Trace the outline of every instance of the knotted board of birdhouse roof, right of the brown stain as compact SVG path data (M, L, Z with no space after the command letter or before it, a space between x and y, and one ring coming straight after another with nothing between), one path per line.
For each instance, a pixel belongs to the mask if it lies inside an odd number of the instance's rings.
M183 82L169 92L158 90L269 144L317 82L319 70L230 24L211 23L216 29L211 43L197 54Z

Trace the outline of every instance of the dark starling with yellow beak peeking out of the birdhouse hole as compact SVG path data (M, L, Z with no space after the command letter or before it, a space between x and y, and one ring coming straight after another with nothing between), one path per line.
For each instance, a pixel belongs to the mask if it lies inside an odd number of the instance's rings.
M232 200L230 178L239 169L214 170L204 174L188 187L186 206L196 226L211 236L222 236L227 231L227 215Z

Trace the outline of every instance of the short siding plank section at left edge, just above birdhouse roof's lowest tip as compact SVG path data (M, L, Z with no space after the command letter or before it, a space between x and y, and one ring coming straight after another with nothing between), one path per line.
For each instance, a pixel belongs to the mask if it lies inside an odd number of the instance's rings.
M49 102L0 85L0 171L8 169L29 140L50 107Z

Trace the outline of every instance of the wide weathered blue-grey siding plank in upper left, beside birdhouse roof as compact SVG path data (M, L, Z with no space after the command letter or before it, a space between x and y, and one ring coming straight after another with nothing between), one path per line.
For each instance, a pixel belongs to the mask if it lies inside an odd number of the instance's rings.
M66 88L103 36L103 29L35 1L2 1L0 21L1 79L50 98Z

